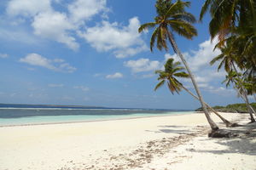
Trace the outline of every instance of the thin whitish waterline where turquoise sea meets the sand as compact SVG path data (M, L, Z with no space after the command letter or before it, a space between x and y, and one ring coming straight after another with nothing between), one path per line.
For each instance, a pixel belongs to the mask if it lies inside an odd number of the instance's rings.
M150 118L150 117L161 117L161 116L182 116L182 115L193 115L193 114L201 114L201 112L197 111L189 111L192 113L175 113L175 114L166 114L160 116L136 116L136 117L123 117L123 118L113 118L113 119L100 119L100 120L88 120L88 121L74 121L74 122L38 122L38 123L26 123L26 124L14 124L14 125L0 125L0 127L24 127L24 126L39 126L39 125L55 125L55 124L70 124L70 123L83 123L83 122L106 122L106 121L121 121L121 120L132 120L132 119L142 119L142 118Z

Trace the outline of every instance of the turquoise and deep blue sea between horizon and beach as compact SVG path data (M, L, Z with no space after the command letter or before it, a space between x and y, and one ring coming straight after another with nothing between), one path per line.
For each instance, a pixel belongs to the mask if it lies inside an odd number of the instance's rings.
M66 122L93 122L147 116L191 114L193 111L47 105L0 105L0 127Z

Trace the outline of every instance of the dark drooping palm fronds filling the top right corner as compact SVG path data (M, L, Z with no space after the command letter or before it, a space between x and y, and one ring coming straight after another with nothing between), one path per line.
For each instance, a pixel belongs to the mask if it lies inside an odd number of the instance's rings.
M210 11L209 31L212 39L218 36L219 47L231 39L236 49L238 66L250 75L256 74L256 1L206 0L201 8L200 20Z

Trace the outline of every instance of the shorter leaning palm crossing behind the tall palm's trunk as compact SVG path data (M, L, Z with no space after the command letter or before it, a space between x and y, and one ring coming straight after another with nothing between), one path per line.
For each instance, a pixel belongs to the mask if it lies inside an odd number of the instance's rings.
M199 98L195 94L190 92L188 88L185 88L183 84L177 80L176 77L189 78L189 74L184 72L183 71L184 67L180 65L181 65L180 62L178 61L174 62L174 59L170 58L166 61L164 71L161 71L161 70L155 71L155 73L159 74L158 80L160 82L155 86L154 91L162 87L165 84L165 82L167 82L168 88L172 94L174 94L175 92L178 94L181 91L181 89L184 89L190 95L192 95L195 99L199 100ZM207 107L213 113L215 113L225 123L227 127L236 126L236 123L231 123L228 120L226 120L223 116L219 115L217 111L212 109L210 105L208 105L207 103L205 103L205 105L207 105Z

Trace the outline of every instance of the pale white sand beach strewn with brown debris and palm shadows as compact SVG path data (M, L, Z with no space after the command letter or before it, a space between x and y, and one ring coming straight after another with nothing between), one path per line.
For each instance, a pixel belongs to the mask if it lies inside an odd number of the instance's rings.
M245 114L222 115L248 122ZM209 139L200 113L0 127L0 170L256 170L255 127L232 127L242 133Z

